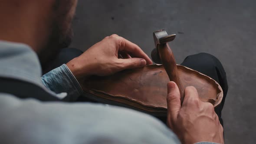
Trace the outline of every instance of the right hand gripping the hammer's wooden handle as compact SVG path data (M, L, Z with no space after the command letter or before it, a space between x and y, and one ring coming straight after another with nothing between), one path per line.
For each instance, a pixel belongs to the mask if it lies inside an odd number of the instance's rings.
M182 144L203 141L224 144L223 127L214 107L199 99L196 88L185 88L182 105L176 83L169 82L167 88L167 125L177 134Z

